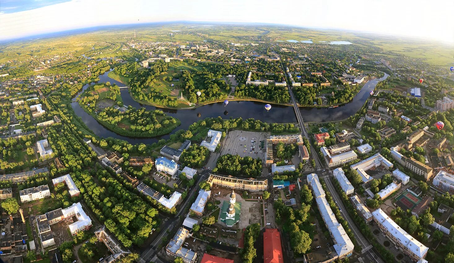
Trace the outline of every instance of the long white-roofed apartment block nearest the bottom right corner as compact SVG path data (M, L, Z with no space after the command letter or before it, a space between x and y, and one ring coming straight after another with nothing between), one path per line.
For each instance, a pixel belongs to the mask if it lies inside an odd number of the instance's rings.
M415 261L427 263L424 258L427 255L429 248L405 232L405 230L396 224L381 208L372 212L372 215L381 231L383 231L386 237L397 245L403 253Z

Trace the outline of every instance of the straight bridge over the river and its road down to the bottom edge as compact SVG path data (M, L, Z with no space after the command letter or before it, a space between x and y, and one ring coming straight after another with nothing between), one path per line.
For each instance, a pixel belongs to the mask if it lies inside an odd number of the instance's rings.
M304 127L303 117L301 116L301 112L296 103L295 95L293 95L290 85L287 86L287 88L288 88L288 92L290 94L291 101L293 103L293 107L295 108L296 119L298 120L298 123L301 127L301 135L306 136L306 138L309 139L309 134L307 133L306 128ZM361 260L363 260L363 262L369 261L369 262L383 263L383 260L381 260L381 258L378 256L378 253L375 252L375 249L372 247L370 242L363 236L363 234L360 232L360 230L356 227L355 222L350 218L350 215L346 212L347 210L345 209L341 198L337 194L334 186L331 184L330 173L324 172L321 170L324 168L329 170L329 167L323 166L323 164L320 161L318 154L315 150L315 147L313 147L312 144L311 144L311 156L312 156L312 159L314 159L316 162L316 173L318 173L320 175L320 177L323 177L325 179L326 185L331 193L331 196L337 202L339 209L341 209L341 211L342 211L341 212L342 216L345 218L345 220L347 220L347 223L348 223L350 229L353 231L353 235L355 236L355 239L358 241L358 244L360 244L361 247L363 248L360 253Z

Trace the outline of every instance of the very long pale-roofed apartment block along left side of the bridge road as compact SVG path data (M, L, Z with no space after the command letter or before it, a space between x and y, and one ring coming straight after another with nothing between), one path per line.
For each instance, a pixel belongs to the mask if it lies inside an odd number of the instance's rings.
M326 228L330 231L331 237L335 244L333 248L334 251L336 251L336 255L333 255L333 260L350 257L355 246L346 234L344 227L339 224L336 216L331 210L331 207L326 200L325 191L320 184L318 175L307 175L307 183L312 189L312 193L316 198L317 207L320 211L321 217L325 222Z

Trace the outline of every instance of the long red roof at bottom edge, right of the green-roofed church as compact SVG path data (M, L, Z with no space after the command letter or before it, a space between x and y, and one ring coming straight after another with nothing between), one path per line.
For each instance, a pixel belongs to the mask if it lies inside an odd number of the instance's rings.
M263 233L263 263L284 263L281 234L277 229L265 229Z

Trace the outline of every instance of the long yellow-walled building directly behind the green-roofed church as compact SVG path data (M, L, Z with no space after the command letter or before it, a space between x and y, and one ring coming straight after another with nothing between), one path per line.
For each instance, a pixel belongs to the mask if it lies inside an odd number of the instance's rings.
M210 174L207 183L238 190L264 191L268 189L268 179L237 178L232 175Z

